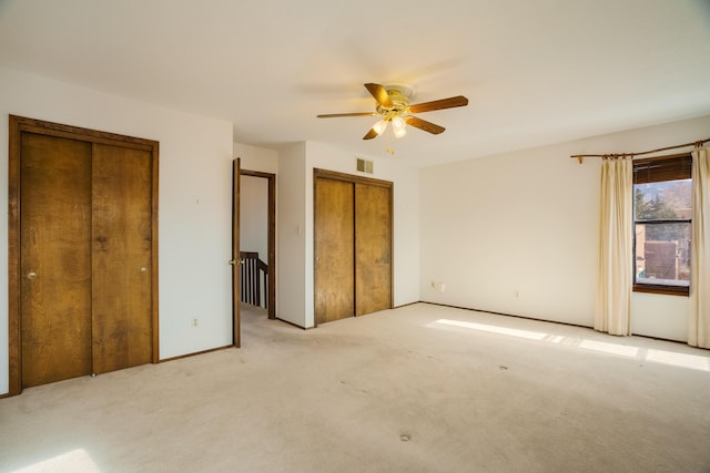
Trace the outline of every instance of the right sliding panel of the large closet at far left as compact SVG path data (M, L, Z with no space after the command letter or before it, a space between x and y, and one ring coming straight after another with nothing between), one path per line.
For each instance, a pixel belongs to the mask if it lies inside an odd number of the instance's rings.
M93 145L93 372L152 360L152 160Z

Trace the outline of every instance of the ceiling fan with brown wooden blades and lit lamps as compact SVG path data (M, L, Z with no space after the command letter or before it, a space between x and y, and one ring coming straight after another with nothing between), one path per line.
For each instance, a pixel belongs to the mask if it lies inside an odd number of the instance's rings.
M342 116L382 116L382 120L369 128L365 136L363 136L363 140L372 140L379 136L385 131L388 123L392 123L395 137L402 137L407 134L405 125L410 125L415 128L438 135L446 130L444 126L418 119L414 116L413 113L432 112L434 110L468 105L468 99L463 95L409 105L409 99L413 96L414 90L404 84L381 85L367 83L365 84L365 89L367 89L377 102L375 112L331 113L317 115L317 117L335 119Z

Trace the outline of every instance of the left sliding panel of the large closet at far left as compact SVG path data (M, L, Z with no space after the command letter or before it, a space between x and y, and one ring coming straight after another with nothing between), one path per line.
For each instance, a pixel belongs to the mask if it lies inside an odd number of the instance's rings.
M91 144L23 133L22 387L91 371Z

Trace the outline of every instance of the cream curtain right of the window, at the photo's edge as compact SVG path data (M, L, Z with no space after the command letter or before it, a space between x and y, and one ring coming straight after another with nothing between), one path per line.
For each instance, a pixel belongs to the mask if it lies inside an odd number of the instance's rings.
M710 153L692 152L692 249L688 343L710 348Z

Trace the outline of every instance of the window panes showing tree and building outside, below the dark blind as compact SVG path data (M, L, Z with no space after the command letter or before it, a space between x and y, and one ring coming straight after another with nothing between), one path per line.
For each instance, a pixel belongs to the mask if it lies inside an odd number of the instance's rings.
M636 284L689 286L691 179L633 185Z

